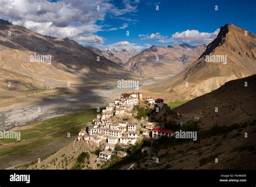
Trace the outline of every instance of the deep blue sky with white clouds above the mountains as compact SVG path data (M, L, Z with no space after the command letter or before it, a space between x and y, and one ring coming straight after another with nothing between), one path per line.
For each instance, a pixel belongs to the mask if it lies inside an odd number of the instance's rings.
M0 0L0 18L98 48L209 44L225 24L256 33L255 0Z

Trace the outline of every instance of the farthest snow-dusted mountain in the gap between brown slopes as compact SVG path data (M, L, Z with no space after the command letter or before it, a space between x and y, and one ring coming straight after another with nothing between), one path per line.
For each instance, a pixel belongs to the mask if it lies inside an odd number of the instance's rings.
M98 49L92 46L86 46L86 48L95 52L98 55L105 56L107 59L116 62L123 66L132 56L139 54L137 49Z

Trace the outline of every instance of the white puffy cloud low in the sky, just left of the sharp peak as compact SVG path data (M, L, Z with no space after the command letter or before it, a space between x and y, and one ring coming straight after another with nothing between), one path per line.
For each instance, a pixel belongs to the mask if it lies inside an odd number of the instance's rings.
M159 42L169 43L169 42L187 42L195 45L209 44L218 35L219 28L211 33L199 32L198 30L186 30L183 32L176 32L172 34L170 39L160 39Z

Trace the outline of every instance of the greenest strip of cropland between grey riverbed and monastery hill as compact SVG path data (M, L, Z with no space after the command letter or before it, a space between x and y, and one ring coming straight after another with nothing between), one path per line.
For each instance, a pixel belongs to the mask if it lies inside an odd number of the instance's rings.
M67 133L70 133L70 140L73 141L81 128L84 128L87 122L96 118L96 109L87 109L65 116L46 119L35 123L29 123L23 126L31 126L28 130L21 131L22 145L19 145L16 139L0 139L0 156L4 155L26 155L35 148L47 146L56 140L66 140ZM17 146L3 146L6 143L17 143ZM16 144L15 143L15 144Z

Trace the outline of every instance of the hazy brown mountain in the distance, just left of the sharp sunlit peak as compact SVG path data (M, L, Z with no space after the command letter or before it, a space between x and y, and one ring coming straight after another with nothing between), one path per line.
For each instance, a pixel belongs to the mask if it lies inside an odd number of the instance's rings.
M205 45L151 46L130 58L124 68L139 75L177 74L198 59Z

